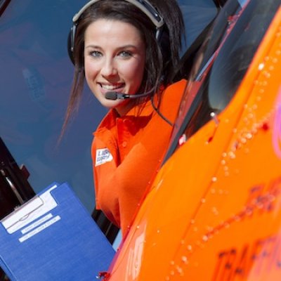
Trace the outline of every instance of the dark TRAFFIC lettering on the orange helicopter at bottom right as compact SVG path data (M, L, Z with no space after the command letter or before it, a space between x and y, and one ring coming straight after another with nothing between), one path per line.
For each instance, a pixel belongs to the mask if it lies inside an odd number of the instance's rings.
M244 280L246 277L256 280L273 270L280 270L281 278L280 235L220 251L212 281Z

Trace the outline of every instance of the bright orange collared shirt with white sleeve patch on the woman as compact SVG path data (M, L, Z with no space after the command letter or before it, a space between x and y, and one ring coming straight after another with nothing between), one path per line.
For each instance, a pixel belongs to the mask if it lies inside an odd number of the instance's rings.
M159 111L173 123L185 85L185 80L178 81L162 93ZM96 209L119 226L123 235L159 169L171 130L146 100L122 117L110 110L94 133Z

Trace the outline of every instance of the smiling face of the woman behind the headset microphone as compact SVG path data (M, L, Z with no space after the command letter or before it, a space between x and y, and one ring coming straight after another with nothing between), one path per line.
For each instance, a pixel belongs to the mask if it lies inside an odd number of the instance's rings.
M84 66L89 88L107 107L124 115L133 99L107 100L105 93L137 93L145 69L145 43L133 25L100 19L85 32Z

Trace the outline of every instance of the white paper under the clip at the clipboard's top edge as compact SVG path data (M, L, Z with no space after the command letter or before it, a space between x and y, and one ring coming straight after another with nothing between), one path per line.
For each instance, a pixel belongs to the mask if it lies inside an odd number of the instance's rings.
M58 204L51 195L51 191L55 188L57 188L57 185L53 185L46 192L34 197L2 219L1 223L7 232L9 234L15 233L15 231L54 209Z

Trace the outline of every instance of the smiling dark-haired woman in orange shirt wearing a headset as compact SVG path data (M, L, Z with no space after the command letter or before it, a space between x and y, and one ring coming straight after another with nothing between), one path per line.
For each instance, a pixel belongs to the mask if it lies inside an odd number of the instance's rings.
M93 0L73 22L75 72L65 124L86 78L109 109L91 148L96 209L124 235L159 169L185 87L185 81L169 86L183 18L176 0Z

